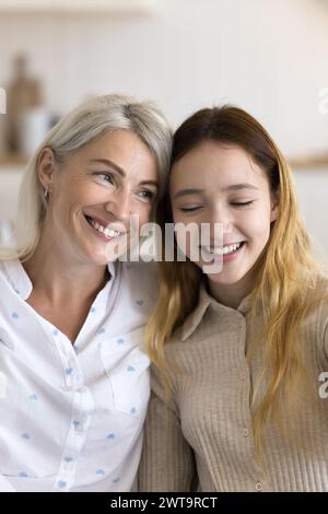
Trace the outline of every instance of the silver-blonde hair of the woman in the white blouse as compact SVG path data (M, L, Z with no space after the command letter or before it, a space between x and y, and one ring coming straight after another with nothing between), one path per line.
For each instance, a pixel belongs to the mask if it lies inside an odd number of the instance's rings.
M47 201L39 182L38 156L46 147L62 164L74 152L105 132L128 130L136 133L156 159L160 196L165 190L172 151L172 130L160 109L151 102L137 102L127 95L95 96L65 116L36 149L25 170L20 188L14 244L0 246L0 260L28 259L39 241Z

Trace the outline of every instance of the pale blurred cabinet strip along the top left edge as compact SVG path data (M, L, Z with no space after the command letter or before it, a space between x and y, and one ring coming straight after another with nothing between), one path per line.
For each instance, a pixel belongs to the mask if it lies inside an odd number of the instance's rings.
M147 13L159 0L0 0L8 13Z

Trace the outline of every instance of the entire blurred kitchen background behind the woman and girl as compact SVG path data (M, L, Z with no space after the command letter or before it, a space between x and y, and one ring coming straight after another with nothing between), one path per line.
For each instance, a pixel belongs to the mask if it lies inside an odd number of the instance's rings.
M153 98L173 126L206 105L249 110L288 156L327 259L328 0L0 0L2 241L45 131L113 92Z

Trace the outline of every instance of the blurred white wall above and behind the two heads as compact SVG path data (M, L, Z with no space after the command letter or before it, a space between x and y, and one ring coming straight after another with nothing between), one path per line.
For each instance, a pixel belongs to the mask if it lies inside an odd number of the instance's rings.
M195 108L249 109L282 150L328 149L327 0L157 0L149 15L0 14L0 86L31 56L49 107L90 94L156 100L177 124ZM0 116L3 122L3 115Z

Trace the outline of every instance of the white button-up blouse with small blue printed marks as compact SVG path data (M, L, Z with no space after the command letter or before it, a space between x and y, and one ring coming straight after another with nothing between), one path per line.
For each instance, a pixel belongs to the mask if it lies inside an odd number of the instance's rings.
M72 346L25 300L19 260L0 262L0 490L130 491L149 396L144 324L153 264L109 265Z

